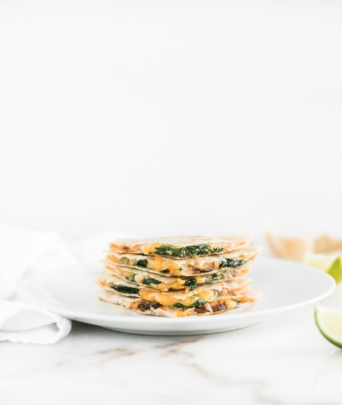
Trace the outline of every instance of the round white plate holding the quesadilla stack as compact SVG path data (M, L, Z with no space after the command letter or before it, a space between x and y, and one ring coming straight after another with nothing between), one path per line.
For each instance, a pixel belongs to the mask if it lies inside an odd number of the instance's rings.
M283 311L325 298L335 281L321 270L274 258L256 259L252 287L264 293L252 305L212 316L163 318L112 307L96 298L94 283L101 264L85 263L33 274L23 280L18 294L25 301L63 315L121 332L147 335L192 335L223 332L253 325Z

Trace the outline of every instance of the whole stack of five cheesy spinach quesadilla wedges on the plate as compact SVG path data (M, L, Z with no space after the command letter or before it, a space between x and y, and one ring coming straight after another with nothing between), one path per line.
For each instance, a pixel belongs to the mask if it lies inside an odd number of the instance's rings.
M104 301L144 315L213 315L253 302L250 234L122 239L96 277Z

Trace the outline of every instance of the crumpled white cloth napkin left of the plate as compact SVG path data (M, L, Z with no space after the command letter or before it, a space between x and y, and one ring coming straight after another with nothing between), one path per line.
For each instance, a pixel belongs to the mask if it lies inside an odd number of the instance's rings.
M54 343L70 332L70 320L24 303L15 291L28 269L46 272L76 262L53 232L0 226L0 341Z

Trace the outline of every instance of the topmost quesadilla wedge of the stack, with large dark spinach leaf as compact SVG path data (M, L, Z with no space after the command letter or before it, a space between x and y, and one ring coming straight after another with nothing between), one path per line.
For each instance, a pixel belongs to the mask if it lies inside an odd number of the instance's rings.
M154 239L121 239L109 244L116 253L168 256L176 259L226 253L250 243L252 234L221 236L171 236Z

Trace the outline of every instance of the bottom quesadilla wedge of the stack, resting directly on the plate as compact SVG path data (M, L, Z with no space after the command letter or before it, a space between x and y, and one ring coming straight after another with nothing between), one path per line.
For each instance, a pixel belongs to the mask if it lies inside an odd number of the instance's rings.
M252 303L259 297L259 292L247 289L240 294L232 295L230 297L221 297L218 294L210 302L203 299L197 299L194 303L185 306L181 303L169 305L168 303L161 303L145 298L124 297L113 290L110 291L107 289L103 289L98 293L98 298L101 300L133 310L139 314L171 318L196 315L216 315Z

